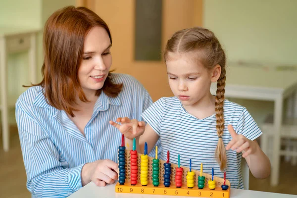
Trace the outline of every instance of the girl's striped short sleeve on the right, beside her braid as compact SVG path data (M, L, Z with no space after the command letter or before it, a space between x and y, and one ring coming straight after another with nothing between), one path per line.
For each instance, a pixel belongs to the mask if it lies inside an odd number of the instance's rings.
M262 135L261 129L246 108L243 109L236 128L236 133L244 135L249 140L255 140Z

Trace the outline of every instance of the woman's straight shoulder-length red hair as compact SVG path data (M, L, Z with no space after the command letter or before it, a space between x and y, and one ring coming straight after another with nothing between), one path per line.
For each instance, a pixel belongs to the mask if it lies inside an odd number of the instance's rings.
M112 43L107 24L86 7L59 9L49 17L44 28L44 77L41 83L33 86L42 86L49 104L65 110L72 117L73 111L78 110L74 107L77 96L81 101L89 102L80 85L78 69L83 57L84 39L95 26L103 27ZM109 97L116 97L122 86L114 84L109 73L97 96L103 91Z

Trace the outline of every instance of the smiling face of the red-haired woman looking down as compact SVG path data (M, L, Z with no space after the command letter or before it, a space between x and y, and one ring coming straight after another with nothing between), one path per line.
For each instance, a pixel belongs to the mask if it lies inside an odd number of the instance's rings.
M106 30L94 27L84 41L83 60L78 69L78 78L86 95L95 94L103 87L112 58L111 43Z

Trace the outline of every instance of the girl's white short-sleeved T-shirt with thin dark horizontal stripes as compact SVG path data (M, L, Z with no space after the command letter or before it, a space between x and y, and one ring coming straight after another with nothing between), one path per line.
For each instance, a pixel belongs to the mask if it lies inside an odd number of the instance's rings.
M179 99L171 97L154 102L142 117L160 137L162 160L166 160L169 150L171 163L177 164L180 154L182 166L189 167L191 158L194 170L199 171L200 163L203 163L203 172L211 174L213 167L215 176L224 177L214 157L218 142L215 114L198 119L183 108ZM224 101L224 120L222 140L225 146L232 140L227 129L229 124L237 134L242 134L249 140L254 140L262 134L247 109L228 100ZM226 151L226 155L226 179L230 181L231 188L243 189L242 154L230 149Z

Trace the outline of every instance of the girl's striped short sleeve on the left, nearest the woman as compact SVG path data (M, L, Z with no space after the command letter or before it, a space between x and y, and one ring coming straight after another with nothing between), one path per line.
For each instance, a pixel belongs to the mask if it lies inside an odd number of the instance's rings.
M158 136L161 136L160 131L161 131L163 111L164 111L164 103L163 103L163 99L161 98L155 101L142 114L142 117L145 120L145 122L147 122L149 126L151 126L151 128L155 131L156 134L158 134Z

